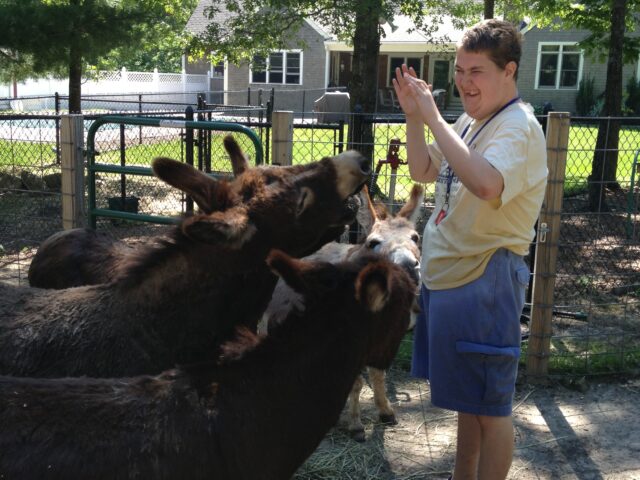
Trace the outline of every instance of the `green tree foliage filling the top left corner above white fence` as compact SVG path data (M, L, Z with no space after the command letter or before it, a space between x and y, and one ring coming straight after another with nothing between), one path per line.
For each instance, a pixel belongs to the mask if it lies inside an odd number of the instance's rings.
M86 64L180 68L184 25L197 0L2 0L0 48L30 58L33 72ZM162 50L170 54L162 54ZM14 55L15 57L15 55ZM154 60L171 62L153 65ZM5 62L7 60L5 59ZM159 62L160 63L160 62ZM14 62L15 64L15 62Z

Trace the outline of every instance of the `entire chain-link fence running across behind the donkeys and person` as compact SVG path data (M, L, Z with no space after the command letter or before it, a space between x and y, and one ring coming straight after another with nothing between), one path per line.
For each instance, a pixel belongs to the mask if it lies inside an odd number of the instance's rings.
M174 112L171 118L185 119L188 115L188 111ZM265 160L269 161L272 132L267 110L196 107L193 118L249 126L259 135ZM307 163L348 148L352 118L351 114L343 114L326 123L318 122L314 112L297 116L293 161ZM371 192L391 209L397 209L407 200L413 184L406 165L404 117L387 114L369 115L367 119L373 138ZM94 120L95 117L85 117L85 129ZM3 280L26 284L26 271L35 249L62 228L59 123L58 116L0 116ZM640 119L621 122L616 149L597 148L599 129L606 133L610 126L610 121L593 118L571 120L555 273L551 375L630 372L640 366ZM104 125L96 136L95 148L101 163L149 166L153 157L168 156L192 161L208 172L230 175L223 135L179 128ZM250 142L242 136L237 139L255 161ZM594 158L602 152L609 155L604 162L607 167L593 172ZM616 153L617 161L613 178L605 175L611 170L612 153ZM598 186L604 187L603 194ZM419 232L433 208L433 186L425 187ZM179 215L190 208L181 193L153 177L117 173L98 175L96 202L101 208L166 216ZM116 238L136 241L167 227L103 218L98 228ZM532 245L532 252L536 245ZM531 292L528 297L531 300ZM529 317L527 308L522 319L525 352ZM410 345L407 343L403 349L410 351Z

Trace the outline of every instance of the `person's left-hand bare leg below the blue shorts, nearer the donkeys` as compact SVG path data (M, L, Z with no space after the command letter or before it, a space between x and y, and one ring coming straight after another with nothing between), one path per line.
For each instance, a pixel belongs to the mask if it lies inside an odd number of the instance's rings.
M478 475L482 431L477 415L458 413L458 440L454 480L475 480Z

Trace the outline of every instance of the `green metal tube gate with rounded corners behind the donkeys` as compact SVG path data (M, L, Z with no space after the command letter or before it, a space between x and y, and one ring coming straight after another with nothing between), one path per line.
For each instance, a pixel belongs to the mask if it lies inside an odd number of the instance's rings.
M96 162L96 132L100 127L105 124L117 124L123 125L138 125L146 127L163 127L163 128L178 128L178 129L193 129L193 130L209 130L209 131L222 131L222 132L235 132L246 135L249 137L255 147L255 162L261 164L263 162L264 154L262 143L256 135L256 133L244 125L231 122L208 122L208 121L191 121L180 120L175 118L150 118L150 117L125 117L117 115L106 115L99 117L89 128L87 135L87 170L88 170L88 223L91 228L96 228L96 222L98 217L109 217L113 219L134 220L139 222L151 222L171 224L176 223L177 219L174 217L164 217L157 215L146 215L139 213L131 213L122 210L98 208L96 204L96 173L115 173L120 175L140 175L140 176L153 176L151 167L140 167L133 165L113 165L106 163ZM123 199L124 200L124 199Z

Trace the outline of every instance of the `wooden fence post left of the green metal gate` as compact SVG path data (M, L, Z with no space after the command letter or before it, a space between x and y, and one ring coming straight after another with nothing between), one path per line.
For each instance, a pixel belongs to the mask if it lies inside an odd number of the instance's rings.
M60 121L62 164L62 228L86 225L84 207L84 117L62 115Z

